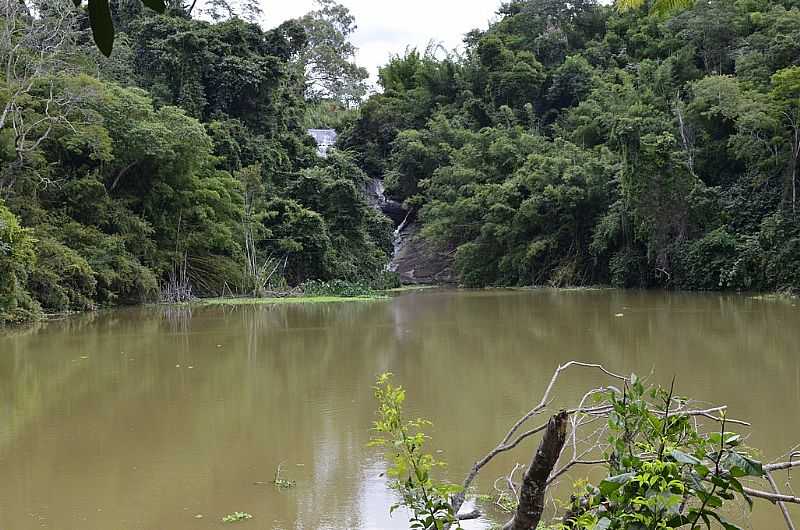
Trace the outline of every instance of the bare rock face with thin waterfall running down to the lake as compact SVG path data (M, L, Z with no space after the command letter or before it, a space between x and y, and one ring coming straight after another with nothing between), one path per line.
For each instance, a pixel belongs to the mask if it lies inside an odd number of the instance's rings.
M437 252L419 236L419 223L397 201L386 197L381 179L371 179L365 189L370 206L394 221L394 255L389 269L404 284L452 283L452 258Z

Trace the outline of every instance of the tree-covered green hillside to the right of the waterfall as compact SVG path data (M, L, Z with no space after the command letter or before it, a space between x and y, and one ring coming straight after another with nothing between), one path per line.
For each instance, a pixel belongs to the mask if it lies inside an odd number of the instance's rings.
M619 7L394 58L343 147L468 286L797 289L800 3Z

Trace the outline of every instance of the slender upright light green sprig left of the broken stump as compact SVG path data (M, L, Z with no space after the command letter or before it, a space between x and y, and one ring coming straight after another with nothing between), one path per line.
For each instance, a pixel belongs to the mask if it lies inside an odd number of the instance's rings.
M393 385L391 377L389 373L381 375L374 387L378 419L373 427L375 437L370 442L373 447L385 449L390 486L400 495L400 501L390 512L407 508L409 527L413 529L461 528L449 500L460 488L434 479L436 469L444 464L424 449L428 437L422 429L430 426L430 422L404 417L405 390Z

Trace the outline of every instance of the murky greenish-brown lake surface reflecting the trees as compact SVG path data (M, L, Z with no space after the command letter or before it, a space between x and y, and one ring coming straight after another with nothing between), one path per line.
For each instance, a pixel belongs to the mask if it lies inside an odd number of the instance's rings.
M387 370L409 415L434 421L431 449L454 481L569 359L676 374L679 394L751 420L748 443L771 460L800 442L799 353L792 302L614 290L139 308L7 331L0 528L218 529L234 511L254 515L242 529L406 528L365 447L370 387ZM559 395L601 382L574 372ZM481 489L535 443L484 469ZM268 484L279 464L296 487ZM751 523L783 525L764 503Z

